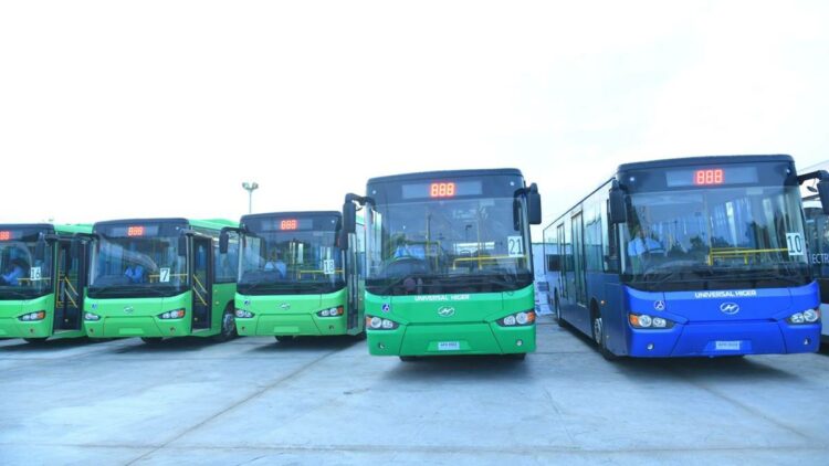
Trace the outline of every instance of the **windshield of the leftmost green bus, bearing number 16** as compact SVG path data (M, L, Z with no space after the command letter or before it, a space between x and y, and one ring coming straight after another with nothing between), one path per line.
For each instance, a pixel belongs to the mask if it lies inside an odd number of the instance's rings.
M0 299L31 299L52 290L52 246L35 256L38 235L0 241Z

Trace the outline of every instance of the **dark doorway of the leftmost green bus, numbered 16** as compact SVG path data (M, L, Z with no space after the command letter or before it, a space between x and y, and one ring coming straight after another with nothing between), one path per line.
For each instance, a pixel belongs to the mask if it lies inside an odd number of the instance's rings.
M81 240L61 240L55 243L57 261L55 274L55 307L52 329L81 330L81 314L84 307L86 250Z

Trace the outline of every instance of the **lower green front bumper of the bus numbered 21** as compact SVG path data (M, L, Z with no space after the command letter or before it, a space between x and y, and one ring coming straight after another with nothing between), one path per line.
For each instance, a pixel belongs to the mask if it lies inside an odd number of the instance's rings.
M497 324L401 325L393 330L366 330L374 356L508 354L535 351L535 325Z

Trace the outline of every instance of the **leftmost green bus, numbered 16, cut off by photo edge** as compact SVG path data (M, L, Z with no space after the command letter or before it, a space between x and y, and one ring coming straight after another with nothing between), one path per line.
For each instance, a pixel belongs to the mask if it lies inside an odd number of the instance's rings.
M92 225L0 225L0 338L84 337Z

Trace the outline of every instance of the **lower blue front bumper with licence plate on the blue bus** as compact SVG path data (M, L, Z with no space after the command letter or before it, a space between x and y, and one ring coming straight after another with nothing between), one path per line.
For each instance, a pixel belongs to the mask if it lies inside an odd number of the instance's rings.
M785 354L819 347L819 322L678 324L668 330L629 328L628 333L628 354L639 358Z

